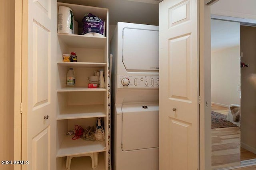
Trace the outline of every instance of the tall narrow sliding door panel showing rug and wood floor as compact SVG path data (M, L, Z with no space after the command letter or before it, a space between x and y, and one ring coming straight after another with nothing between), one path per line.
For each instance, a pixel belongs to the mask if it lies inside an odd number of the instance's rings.
M211 20L212 169L240 165L240 23Z

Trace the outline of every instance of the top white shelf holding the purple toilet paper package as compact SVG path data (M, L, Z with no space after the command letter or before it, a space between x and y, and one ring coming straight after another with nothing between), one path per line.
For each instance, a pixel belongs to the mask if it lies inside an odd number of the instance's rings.
M107 43L106 37L86 37L84 35L77 34L57 35L61 40L63 40L68 45L68 47L104 49Z

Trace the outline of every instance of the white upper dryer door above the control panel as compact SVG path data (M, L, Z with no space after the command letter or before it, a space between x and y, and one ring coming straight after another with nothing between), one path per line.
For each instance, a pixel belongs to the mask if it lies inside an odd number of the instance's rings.
M158 70L158 31L124 28L123 63L126 70Z

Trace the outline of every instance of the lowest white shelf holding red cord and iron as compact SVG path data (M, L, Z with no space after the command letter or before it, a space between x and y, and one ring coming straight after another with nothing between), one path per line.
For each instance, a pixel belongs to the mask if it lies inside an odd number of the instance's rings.
M106 151L105 141L87 141L83 139L72 140L72 136L66 136L60 145L56 157L72 156L94 152Z

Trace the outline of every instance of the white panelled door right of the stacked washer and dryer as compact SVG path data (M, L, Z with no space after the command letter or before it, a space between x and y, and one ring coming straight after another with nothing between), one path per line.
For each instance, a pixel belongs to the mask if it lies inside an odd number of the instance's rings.
M199 169L198 31L198 0L160 2L160 170Z

